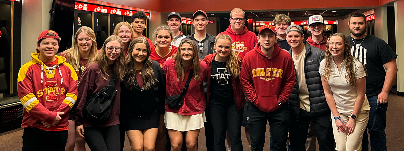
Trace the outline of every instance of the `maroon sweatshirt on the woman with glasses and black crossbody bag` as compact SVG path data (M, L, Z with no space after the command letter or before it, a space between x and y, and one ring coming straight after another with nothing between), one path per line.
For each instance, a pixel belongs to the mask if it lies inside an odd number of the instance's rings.
M112 69L114 65L108 65L108 75L112 75ZM119 124L119 112L120 112L120 93L121 86L120 80L116 81L116 96L114 100L114 107L112 107L111 115L103 123L92 123L87 117L86 113L83 112L84 106L86 105L87 99L99 92L101 89L105 88L109 84L111 76L107 76L107 80L102 77L101 69L97 62L92 63L87 66L86 70L80 77L80 83L78 85L78 105L73 111L73 121L76 122L76 126L83 125L84 127L91 126L114 126Z

